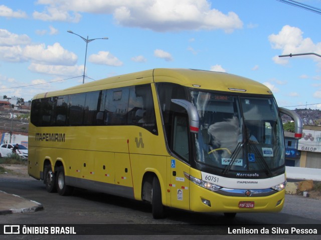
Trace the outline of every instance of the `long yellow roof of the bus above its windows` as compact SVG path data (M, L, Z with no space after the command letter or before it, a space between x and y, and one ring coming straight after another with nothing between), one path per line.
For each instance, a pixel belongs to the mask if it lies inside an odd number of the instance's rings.
M270 89L262 83L230 73L184 68L154 68L112 76L63 90L40 93L33 99L152 82L172 82L188 87L218 91L272 94Z

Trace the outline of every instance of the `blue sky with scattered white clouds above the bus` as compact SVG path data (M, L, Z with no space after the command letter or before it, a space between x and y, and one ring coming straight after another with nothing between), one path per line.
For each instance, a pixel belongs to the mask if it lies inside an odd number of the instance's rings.
M321 0L296 0L321 8ZM321 14L278 0L1 0L0 95L159 67L223 71L321 109ZM73 31L76 34L67 32Z

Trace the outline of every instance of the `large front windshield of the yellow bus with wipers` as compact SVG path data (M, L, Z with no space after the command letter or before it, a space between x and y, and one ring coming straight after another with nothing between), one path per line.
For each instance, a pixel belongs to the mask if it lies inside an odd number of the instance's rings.
M192 91L200 116L196 160L229 171L264 171L284 165L281 121L273 97Z

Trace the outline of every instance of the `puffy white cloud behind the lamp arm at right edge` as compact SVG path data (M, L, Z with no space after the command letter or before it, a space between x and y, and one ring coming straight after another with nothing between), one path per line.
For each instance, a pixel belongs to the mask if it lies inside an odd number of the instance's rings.
M281 49L282 55L314 52L321 54L321 42L313 43L309 37L303 38L303 32L298 27L285 25L278 34L271 34L268 37L272 48ZM306 55L305 57L311 57ZM274 56L273 60L277 64L286 64L289 57ZM319 57L312 58L315 61L320 61ZM319 66L321 67L321 63Z

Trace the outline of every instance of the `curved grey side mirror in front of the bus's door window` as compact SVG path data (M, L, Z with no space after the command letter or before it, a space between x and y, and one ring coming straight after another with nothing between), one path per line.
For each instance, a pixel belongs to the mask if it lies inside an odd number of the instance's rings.
M200 125L200 116L197 108L193 105L193 103L184 99L172 99L172 102L180 106L183 106L187 110L190 122L190 131L198 133Z

